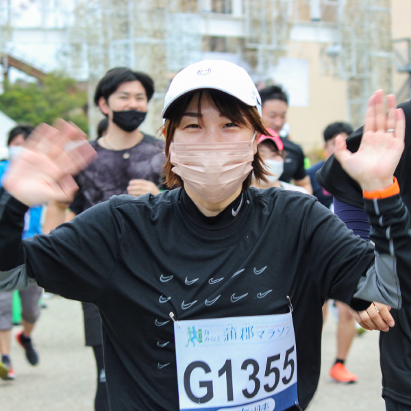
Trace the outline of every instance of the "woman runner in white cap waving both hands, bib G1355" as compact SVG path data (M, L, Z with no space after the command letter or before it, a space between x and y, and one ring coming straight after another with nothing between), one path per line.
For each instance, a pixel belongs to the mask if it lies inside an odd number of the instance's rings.
M0 192L0 289L37 282L94 303L112 411L295 410L308 406L326 297L356 310L410 303L410 221L393 171L404 119L371 97L357 153L336 158L364 190L372 245L308 195L250 188L260 97L235 64L175 76L164 110L160 195L121 195L47 236L21 240L27 206L72 195L93 152L75 127L42 125ZM394 182L393 182L394 181ZM376 251L376 253L375 253Z

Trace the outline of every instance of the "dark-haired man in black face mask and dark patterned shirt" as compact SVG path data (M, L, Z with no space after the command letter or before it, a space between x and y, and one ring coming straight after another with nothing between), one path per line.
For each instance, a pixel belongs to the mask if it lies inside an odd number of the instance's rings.
M137 197L160 192L164 143L139 128L153 93L151 77L125 67L111 69L100 80L94 101L108 119L107 132L91 142L97 158L75 177L79 190L73 203L70 206L55 201L49 203L43 232L48 233L112 195ZM93 348L97 363L95 410L108 411L100 314L90 303L83 303L83 310L86 345Z

